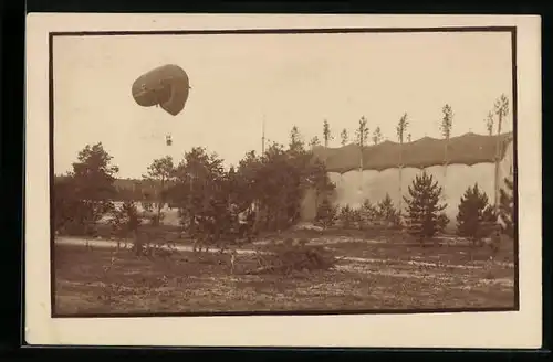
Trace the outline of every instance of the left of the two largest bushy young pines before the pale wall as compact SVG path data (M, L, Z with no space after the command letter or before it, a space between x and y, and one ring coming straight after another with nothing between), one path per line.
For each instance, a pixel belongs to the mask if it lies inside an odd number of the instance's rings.
M408 191L410 198L404 196L408 233L424 243L441 231L445 221L449 221L442 213L447 204L439 204L442 189L431 174L422 171L415 177Z

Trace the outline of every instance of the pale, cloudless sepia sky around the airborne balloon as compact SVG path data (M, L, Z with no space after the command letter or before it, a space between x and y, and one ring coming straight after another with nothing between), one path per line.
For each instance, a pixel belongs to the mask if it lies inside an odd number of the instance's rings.
M185 109L142 107L131 86L177 64L190 78ZM441 108L453 109L451 137L486 134L501 94L512 103L509 33L248 35L100 35L54 39L54 172L72 168L86 145L102 142L119 178L140 178L156 158L201 146L226 164L286 145L295 125L307 142L327 119L340 147L362 116L372 134L397 140L407 113L411 139L439 138ZM511 113L503 130L512 130ZM170 135L168 147L165 136Z

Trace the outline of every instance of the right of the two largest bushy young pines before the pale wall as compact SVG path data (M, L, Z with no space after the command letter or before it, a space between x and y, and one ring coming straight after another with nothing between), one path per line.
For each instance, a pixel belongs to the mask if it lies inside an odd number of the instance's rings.
M457 214L457 233L477 244L493 231L495 216L493 206L488 202L488 195L480 191L478 183L469 187L459 204Z

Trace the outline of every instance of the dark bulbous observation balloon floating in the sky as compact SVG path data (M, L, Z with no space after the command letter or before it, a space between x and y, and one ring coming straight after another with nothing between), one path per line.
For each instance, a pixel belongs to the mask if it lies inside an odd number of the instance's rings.
M140 75L132 87L133 98L143 107L159 105L176 116L188 99L190 83L186 72L175 64L156 67Z

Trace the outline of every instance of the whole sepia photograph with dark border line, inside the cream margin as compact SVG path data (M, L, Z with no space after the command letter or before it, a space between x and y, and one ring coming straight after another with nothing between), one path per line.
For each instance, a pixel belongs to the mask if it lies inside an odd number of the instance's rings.
M48 313L519 311L517 40L49 32Z

